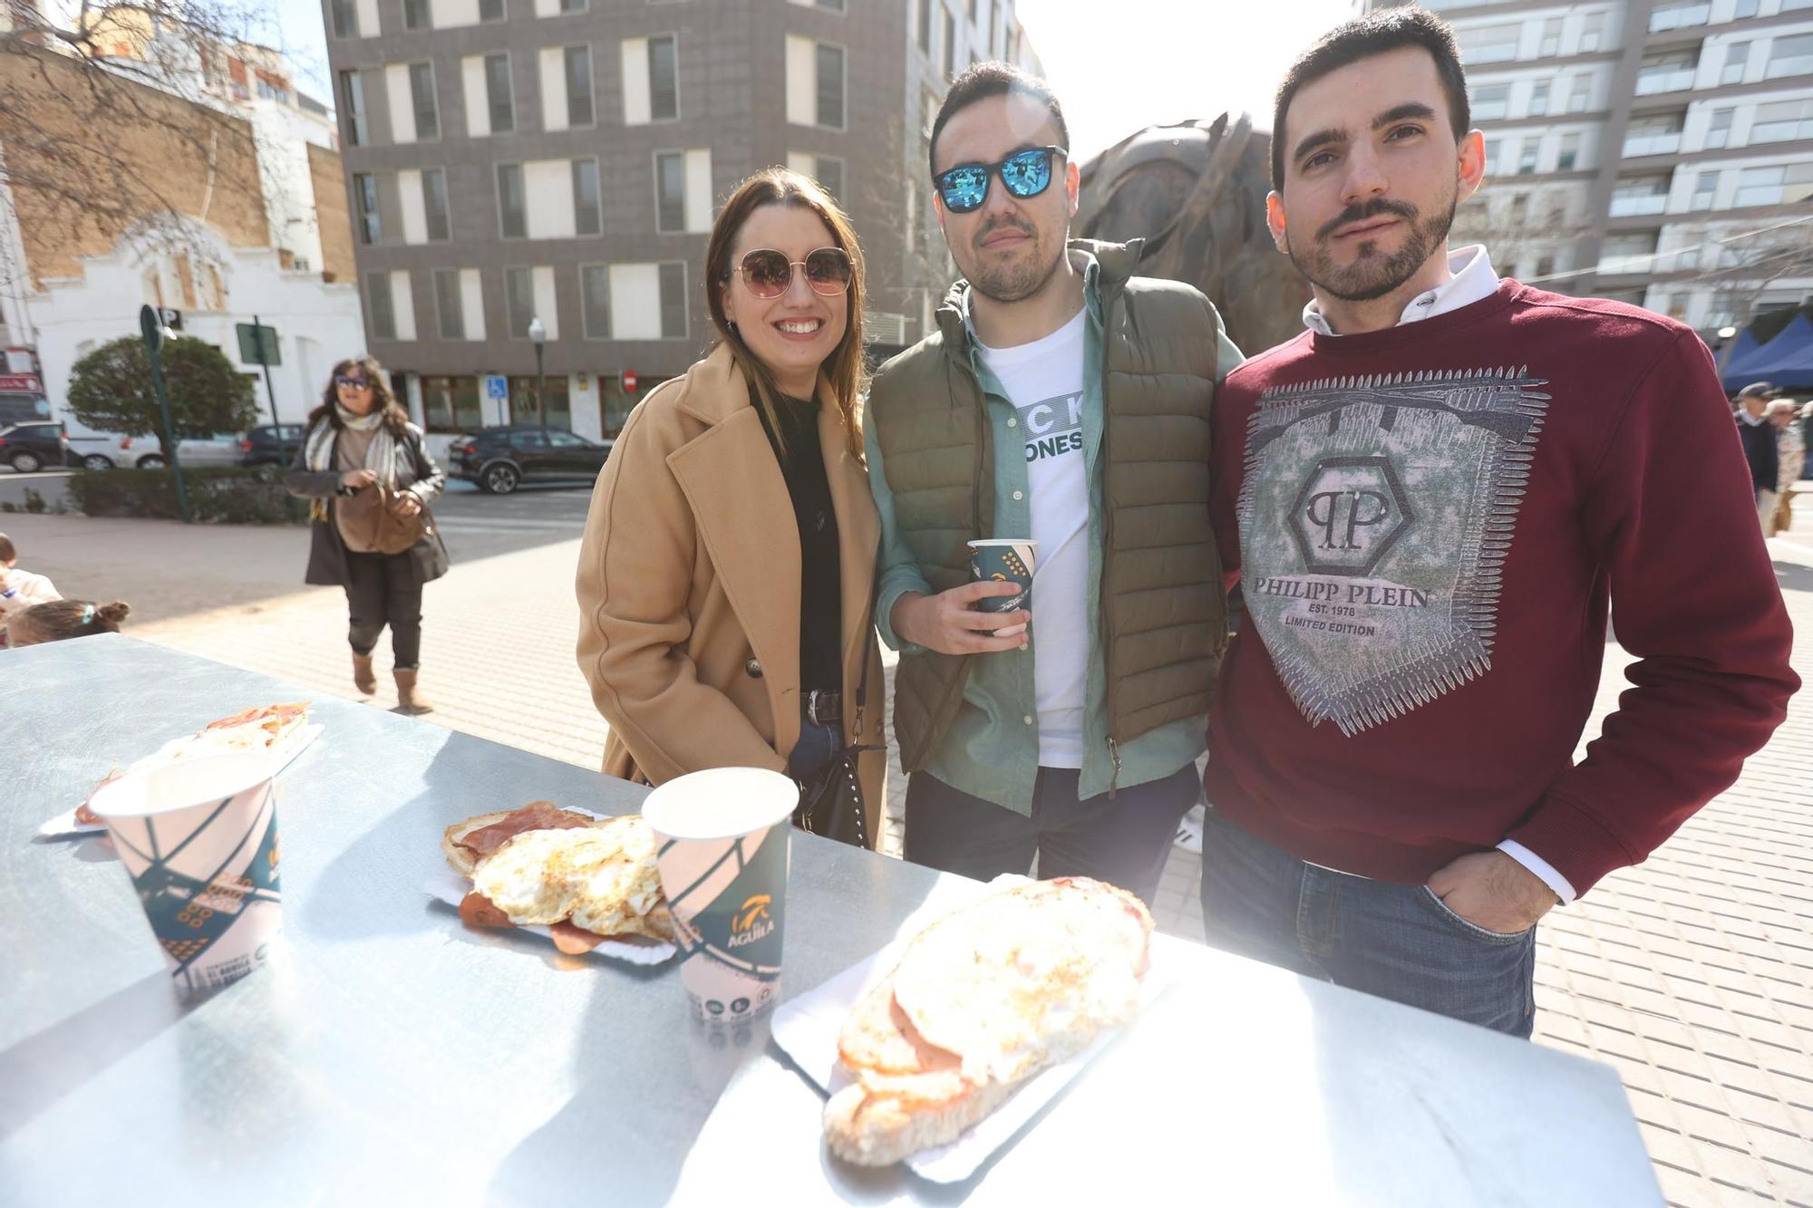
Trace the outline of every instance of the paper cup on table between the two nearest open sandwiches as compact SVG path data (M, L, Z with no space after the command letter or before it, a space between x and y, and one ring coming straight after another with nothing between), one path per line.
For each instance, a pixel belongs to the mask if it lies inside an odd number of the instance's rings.
M678 776L642 802L685 952L680 979L702 1019L749 1019L774 1005L798 805L800 785L761 767Z

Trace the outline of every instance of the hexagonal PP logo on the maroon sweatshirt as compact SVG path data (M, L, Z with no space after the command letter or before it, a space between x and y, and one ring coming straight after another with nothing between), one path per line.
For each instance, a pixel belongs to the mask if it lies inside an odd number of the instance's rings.
M1365 579L1416 522L1389 457L1323 457L1291 506L1304 570Z

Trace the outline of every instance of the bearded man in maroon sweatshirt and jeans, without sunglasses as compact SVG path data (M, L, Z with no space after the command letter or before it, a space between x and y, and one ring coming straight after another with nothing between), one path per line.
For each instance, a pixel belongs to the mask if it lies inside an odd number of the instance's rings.
M1706 346L1450 252L1485 170L1427 11L1278 89L1271 229L1314 301L1217 401L1249 619L1202 905L1211 943L1528 1036L1536 921L1726 789L1798 678ZM1575 762L1608 604L1639 662Z

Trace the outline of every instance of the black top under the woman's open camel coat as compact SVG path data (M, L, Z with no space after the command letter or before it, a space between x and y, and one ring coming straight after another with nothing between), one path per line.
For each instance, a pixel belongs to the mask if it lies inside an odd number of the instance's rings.
M781 473L800 524L800 700L814 687L843 691L843 568L838 513L818 439L818 401L780 397Z

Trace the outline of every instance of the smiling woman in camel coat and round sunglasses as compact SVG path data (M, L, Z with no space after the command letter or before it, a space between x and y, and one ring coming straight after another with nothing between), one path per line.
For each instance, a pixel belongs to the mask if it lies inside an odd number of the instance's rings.
M705 258L718 343L636 406L598 477L578 660L611 727L606 773L807 778L839 745L883 744L861 250L829 194L769 169L725 203ZM870 840L885 767L863 755Z

